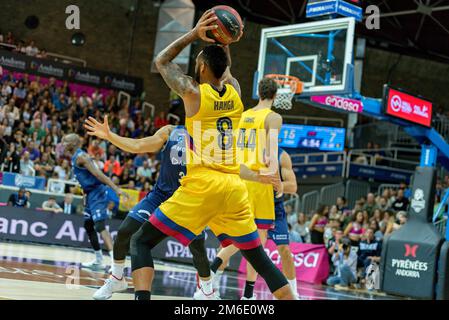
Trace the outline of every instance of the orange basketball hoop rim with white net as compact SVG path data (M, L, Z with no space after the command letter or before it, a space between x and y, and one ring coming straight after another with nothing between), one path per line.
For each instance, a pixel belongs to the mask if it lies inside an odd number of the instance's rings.
M285 74L267 74L265 77L273 79L278 84L278 92L273 106L282 110L291 110L295 94L301 94L304 84L297 77Z

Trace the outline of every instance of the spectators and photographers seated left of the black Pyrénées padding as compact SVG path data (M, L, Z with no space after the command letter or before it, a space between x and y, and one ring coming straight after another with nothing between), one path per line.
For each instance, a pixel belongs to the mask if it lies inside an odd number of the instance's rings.
M383 239L407 222L409 198L410 190L401 184L380 195L368 193L352 208L344 197L307 214L287 207L290 239L326 246L331 265L328 285L374 289L367 284L372 280L368 275L378 270Z

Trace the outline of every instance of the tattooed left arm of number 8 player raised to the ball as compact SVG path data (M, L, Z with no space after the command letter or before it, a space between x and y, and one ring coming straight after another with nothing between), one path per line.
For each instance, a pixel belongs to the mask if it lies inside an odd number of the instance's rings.
M183 99L188 99L192 95L198 95L198 84L182 72L181 68L173 62L184 48L192 42L202 39L206 42L215 42L206 36L208 30L217 28L216 25L210 25L217 19L212 10L206 11L198 21L195 28L183 35L167 48L162 50L155 59L156 68L161 73L167 85Z

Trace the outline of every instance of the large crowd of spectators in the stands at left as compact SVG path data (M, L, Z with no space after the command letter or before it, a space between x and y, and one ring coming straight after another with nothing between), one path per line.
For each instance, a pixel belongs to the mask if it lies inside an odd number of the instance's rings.
M168 123L164 112L155 119L144 118L139 99L119 103L115 91L97 89L88 94L54 78L0 70L0 172L44 177L47 182L52 178L56 180L53 192L80 194L78 188L69 187L75 181L71 159L63 154L61 143L64 135L77 133L83 139L83 149L114 183L149 192L159 171L157 155L131 155L85 134L84 121L89 116L102 119L104 114L109 115L112 131L131 138L152 135ZM59 212L58 204L48 200L42 208Z

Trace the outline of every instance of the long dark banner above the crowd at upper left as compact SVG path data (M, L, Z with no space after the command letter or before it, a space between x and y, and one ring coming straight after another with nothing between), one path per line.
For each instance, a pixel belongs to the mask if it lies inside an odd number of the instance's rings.
M97 88L123 90L131 95L139 95L143 90L141 78L68 65L49 59L29 57L7 50L0 50L0 66L9 71L46 78L54 77L59 80L67 80L71 83L80 83Z

